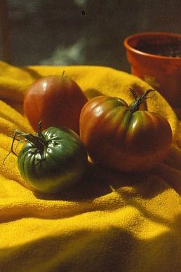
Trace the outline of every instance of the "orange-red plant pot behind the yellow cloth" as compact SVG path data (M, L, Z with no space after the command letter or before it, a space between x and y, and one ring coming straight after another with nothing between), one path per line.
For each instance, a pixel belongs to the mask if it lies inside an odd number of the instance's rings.
M131 73L158 90L173 108L181 107L181 35L140 33L124 41Z

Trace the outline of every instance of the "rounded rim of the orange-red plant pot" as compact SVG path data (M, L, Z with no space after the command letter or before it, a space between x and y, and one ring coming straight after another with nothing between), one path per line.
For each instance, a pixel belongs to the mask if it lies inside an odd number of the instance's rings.
M154 55L154 54L150 54L150 53L145 53L145 52L135 49L129 45L129 41L131 39L144 37L144 36L168 36L168 37L177 37L177 38L180 38L180 40L181 40L181 34L175 34L175 33L170 33L170 32L140 32L137 34L127 36L126 39L124 39L124 41L123 41L123 45L127 50L129 50L132 53L135 53L137 55L142 55L145 57L152 57L152 58L156 58L157 60L174 60L176 62L181 61L181 57L168 57L168 56L161 56L161 55Z

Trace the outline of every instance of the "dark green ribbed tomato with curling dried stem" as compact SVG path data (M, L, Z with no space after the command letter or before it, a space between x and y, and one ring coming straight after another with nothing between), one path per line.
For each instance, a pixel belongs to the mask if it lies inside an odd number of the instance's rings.
M88 156L73 130L50 127L36 135L19 131L17 135L28 141L18 154L18 168L32 189L58 193L80 182Z

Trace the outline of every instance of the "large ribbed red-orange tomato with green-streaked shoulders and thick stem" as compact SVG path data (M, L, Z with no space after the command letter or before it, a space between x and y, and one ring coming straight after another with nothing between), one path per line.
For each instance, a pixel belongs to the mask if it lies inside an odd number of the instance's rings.
M166 118L139 110L147 90L128 104L119 97L88 101L80 115L80 137L93 162L123 172L150 170L170 149L172 130Z

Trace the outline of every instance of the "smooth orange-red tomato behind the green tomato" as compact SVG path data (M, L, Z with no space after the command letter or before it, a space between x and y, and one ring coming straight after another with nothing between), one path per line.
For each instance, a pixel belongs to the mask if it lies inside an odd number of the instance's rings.
M23 105L35 131L41 120L43 129L63 126L79 133L79 116L86 102L86 96L77 83L62 75L46 76L32 83Z

